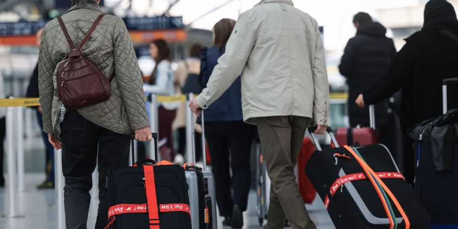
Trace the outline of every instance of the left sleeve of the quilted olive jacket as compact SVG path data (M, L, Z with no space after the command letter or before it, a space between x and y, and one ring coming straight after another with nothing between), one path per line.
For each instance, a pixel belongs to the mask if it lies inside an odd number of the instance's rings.
M57 63L54 63L49 53L46 37L46 28L43 31L40 43L40 53L38 55L38 89L40 93L40 103L43 110L43 131L53 133L52 131L52 97L54 95L54 82L52 76Z

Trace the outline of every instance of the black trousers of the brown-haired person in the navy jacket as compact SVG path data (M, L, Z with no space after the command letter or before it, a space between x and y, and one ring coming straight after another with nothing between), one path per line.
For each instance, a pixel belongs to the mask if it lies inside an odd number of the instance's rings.
M243 122L205 123L212 171L215 176L216 201L221 216L231 216L234 205L238 205L242 211L247 208L254 128ZM231 194L231 184L234 195Z

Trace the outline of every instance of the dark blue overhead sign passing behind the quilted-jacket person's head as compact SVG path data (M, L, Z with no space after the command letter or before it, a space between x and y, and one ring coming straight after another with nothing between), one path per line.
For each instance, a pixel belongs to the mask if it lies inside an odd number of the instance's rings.
M129 31L173 30L184 28L183 17L123 18ZM48 21L20 21L0 23L0 36L35 35Z

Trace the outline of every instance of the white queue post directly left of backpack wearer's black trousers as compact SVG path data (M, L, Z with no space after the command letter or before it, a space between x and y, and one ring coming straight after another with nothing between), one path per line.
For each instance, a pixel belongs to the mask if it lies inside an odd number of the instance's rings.
M54 150L55 205L57 209L57 228L65 229L64 185L62 173L62 150Z

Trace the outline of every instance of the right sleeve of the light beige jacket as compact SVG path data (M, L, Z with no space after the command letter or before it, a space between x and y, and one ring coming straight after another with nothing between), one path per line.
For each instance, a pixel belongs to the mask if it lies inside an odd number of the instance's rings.
M329 82L326 70L325 50L323 40L319 31L318 23L315 21L317 33L317 45L315 47L315 58L313 60L313 121L317 125L328 125L329 110Z

